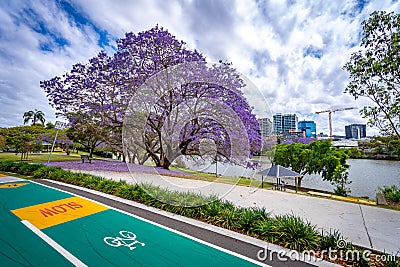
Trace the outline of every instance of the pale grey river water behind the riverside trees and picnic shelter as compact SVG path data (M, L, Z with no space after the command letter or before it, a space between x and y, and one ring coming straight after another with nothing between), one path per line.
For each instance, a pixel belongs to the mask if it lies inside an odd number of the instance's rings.
M375 199L378 187L392 185L400 187L400 161L348 159L347 163L350 165L349 179L352 183L348 187L352 196L368 196L371 199ZM263 169L268 167L269 165L263 162ZM201 171L215 173L215 164L208 165ZM257 175L250 170L245 170L239 166L228 167L221 163L218 164L218 173L231 177L247 176L261 179L261 175ZM264 177L264 180L276 182L276 179L272 177ZM294 185L293 178L283 178L282 180L285 183ZM334 186L330 182L322 181L320 175L305 175L302 180L302 186L331 192L334 190Z

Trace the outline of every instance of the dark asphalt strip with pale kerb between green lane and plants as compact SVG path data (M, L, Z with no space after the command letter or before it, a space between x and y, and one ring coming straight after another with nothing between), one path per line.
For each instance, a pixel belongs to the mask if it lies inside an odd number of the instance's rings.
M291 259L289 257L296 257L296 254L292 254L293 251L289 249L284 249L280 246L198 220L162 211L134 201L121 199L113 195L52 180L38 180L37 182L95 200L130 214L135 214L135 216L165 226L169 229L176 229L180 233L186 234L191 238L202 240L213 246L247 257L248 259L261 261L265 263L263 266L266 267L340 267L337 264L322 261L318 258ZM192 264L189 266L192 266ZM213 257L210 257L209 262L203 264L203 266L228 266L228 262L222 265L215 265Z

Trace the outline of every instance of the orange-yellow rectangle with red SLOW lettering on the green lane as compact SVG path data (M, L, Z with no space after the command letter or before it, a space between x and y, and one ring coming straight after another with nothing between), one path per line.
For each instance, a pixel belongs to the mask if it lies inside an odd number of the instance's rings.
M107 209L103 205L80 197L70 197L15 209L11 212L21 220L27 220L37 228L44 229Z

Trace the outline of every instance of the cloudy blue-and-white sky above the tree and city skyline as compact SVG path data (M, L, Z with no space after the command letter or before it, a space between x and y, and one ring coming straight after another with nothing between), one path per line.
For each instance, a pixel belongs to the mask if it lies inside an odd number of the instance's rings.
M0 2L0 127L22 125L35 108L55 121L39 87L126 32L163 26L209 61L232 62L273 113L297 113L328 132L315 111L369 104L343 94L342 66L358 50L360 23L375 10L400 13L391 0L70 0ZM257 93L255 96L259 95ZM251 98L251 96L249 96ZM366 122L357 110L333 116L334 133ZM376 131L369 129L367 134Z

